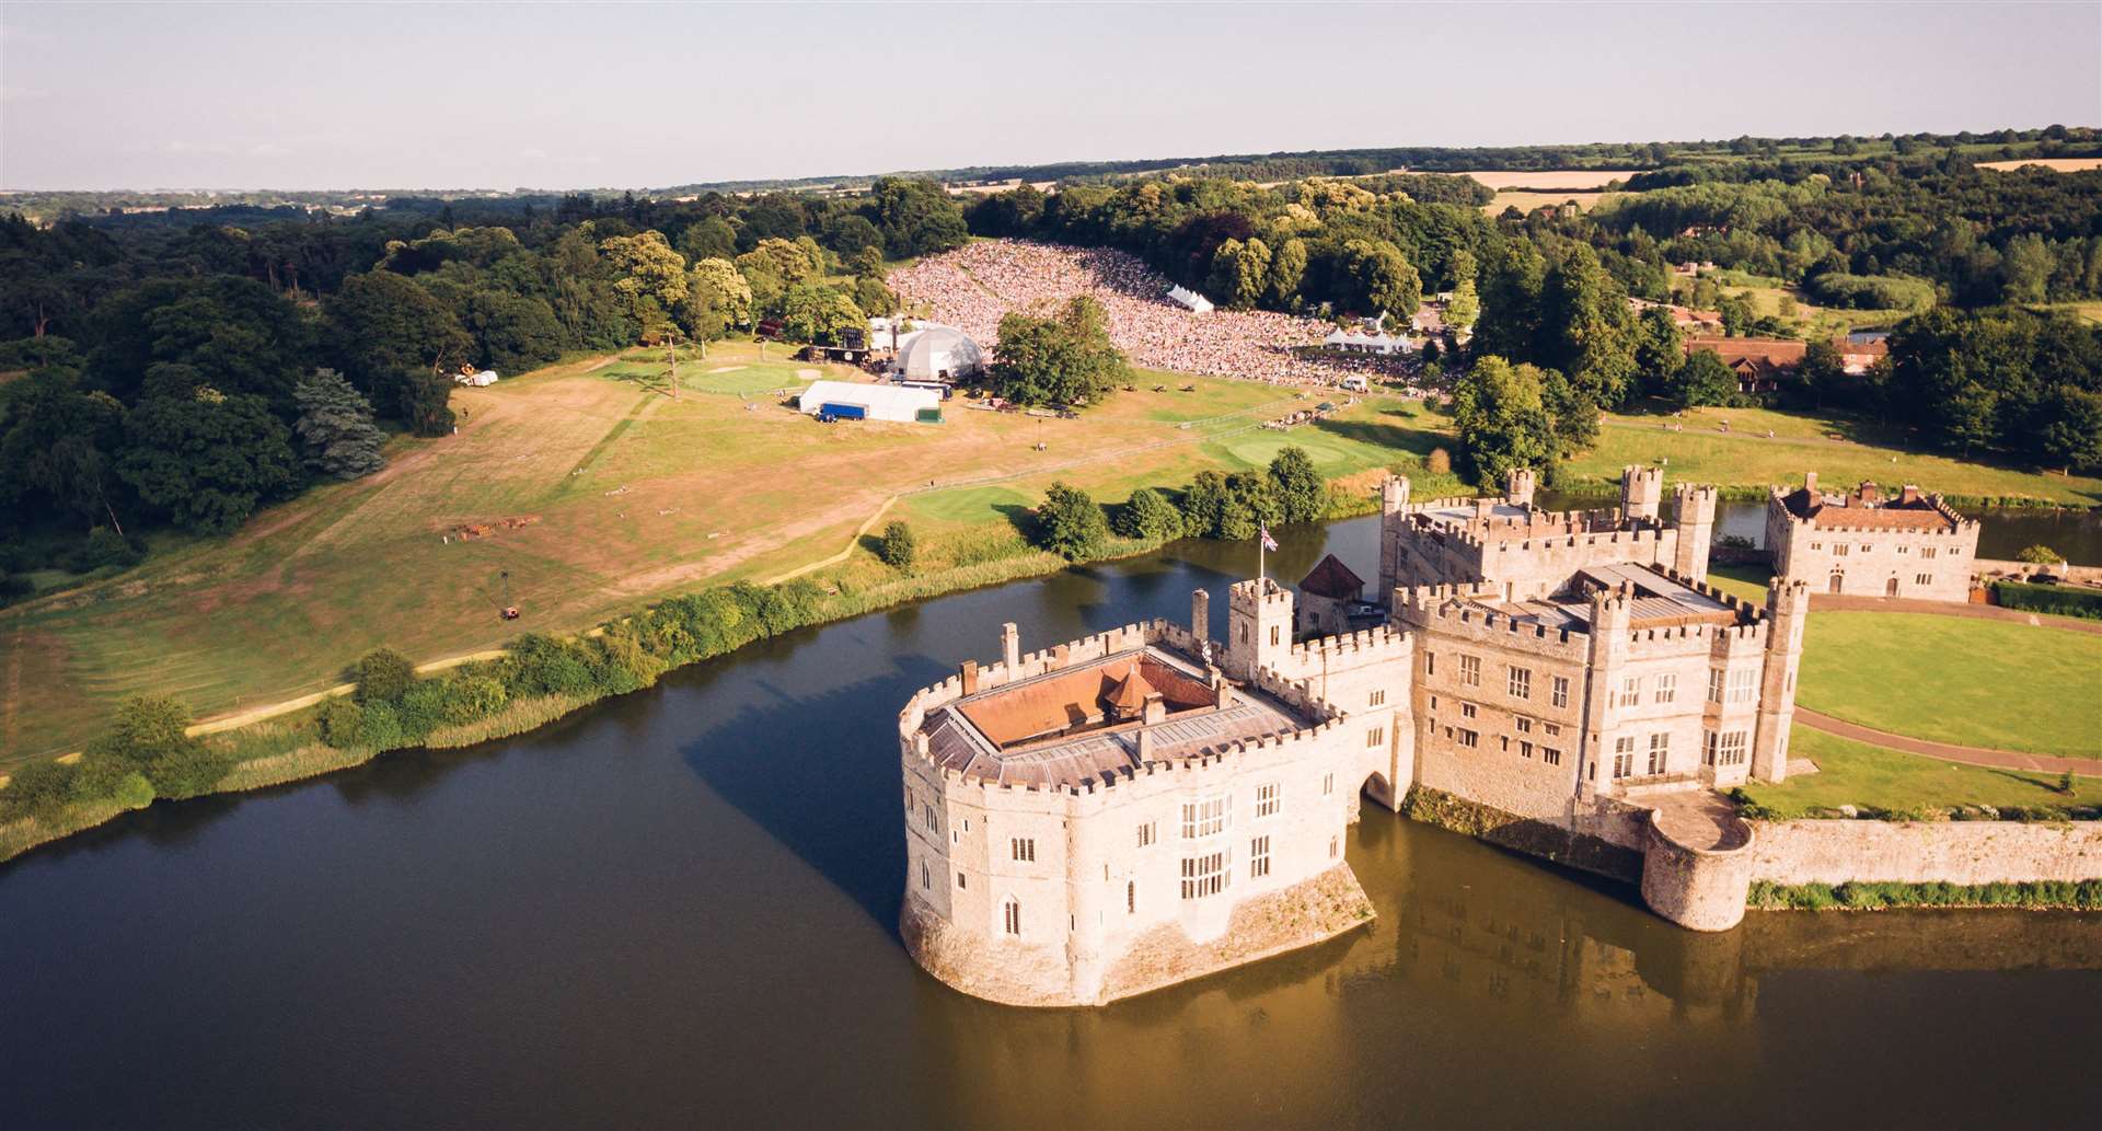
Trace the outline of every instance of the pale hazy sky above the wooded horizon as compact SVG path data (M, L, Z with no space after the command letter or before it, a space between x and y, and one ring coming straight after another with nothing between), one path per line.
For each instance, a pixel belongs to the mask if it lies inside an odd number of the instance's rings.
M2052 122L2102 124L2102 0L0 0L0 189L641 189Z

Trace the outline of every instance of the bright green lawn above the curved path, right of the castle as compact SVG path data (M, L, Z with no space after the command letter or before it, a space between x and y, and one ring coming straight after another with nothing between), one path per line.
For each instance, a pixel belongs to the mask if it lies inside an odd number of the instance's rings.
M1818 612L1795 692L1812 711L1913 738L2102 757L2102 637L2005 620Z

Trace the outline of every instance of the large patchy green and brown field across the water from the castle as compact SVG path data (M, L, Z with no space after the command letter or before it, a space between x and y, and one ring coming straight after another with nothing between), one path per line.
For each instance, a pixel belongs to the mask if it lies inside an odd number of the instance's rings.
M967 492L914 496L908 517L965 532L1032 507L1051 479L1112 502L1204 467L1253 467L1286 441L1341 475L1400 458L1385 439L1406 435L1383 423L1400 410L1389 399L1352 408L1335 431L1263 433L1259 420L1318 402L1179 374L1143 374L1169 391L1141 383L1078 420L950 402L946 425L826 427L759 391L853 370L782 362L778 347L769 359L753 345L708 353L681 359L677 402L647 353L460 389L458 435L397 439L376 475L0 610L0 763L78 748L130 694L179 694L208 717L334 685L383 643L437 660L704 582L778 576L839 553L885 498L929 481ZM519 622L496 616L500 572Z

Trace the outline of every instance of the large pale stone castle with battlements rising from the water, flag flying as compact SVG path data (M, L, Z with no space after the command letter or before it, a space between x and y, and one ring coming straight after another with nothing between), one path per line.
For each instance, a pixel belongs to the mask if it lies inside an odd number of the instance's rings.
M1093 1005L1347 931L1360 795L1640 881L1665 919L1745 912L1717 788L1787 776L1808 589L1703 584L1715 490L1627 469L1621 507L1410 502L1383 486L1379 597L1310 574L965 662L900 713L912 957L959 990ZM1295 639L1295 637L1305 639Z

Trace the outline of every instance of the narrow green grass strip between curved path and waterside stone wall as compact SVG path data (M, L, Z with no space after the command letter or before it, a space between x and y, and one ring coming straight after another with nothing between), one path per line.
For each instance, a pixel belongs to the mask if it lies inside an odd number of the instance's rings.
M1991 769L1885 750L1797 725L1789 755L1818 763L1816 774L1778 786L1747 784L1745 795L1801 818L1839 805L1877 809L1946 809L1955 805L2102 805L2102 778L2073 778L2073 795L2058 793L2058 774Z

